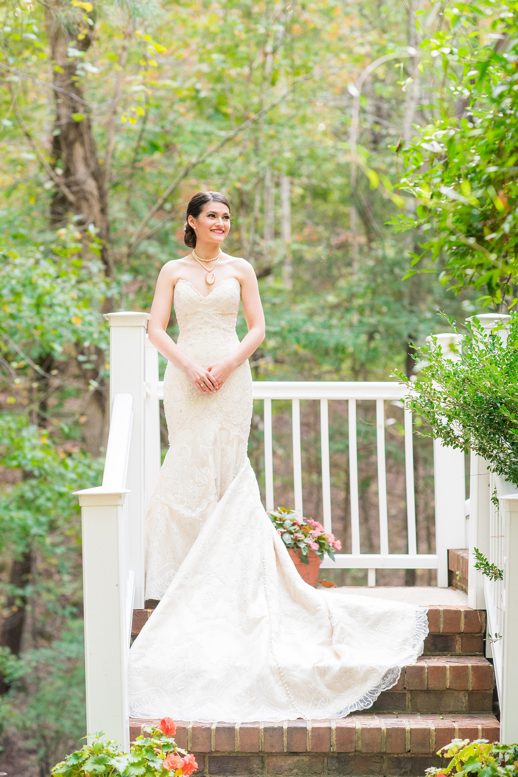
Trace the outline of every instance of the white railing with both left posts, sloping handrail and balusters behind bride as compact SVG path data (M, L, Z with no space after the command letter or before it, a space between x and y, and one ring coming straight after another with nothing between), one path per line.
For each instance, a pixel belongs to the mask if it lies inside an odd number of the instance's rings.
M88 732L104 730L109 738L116 739L123 747L128 746L129 738L126 667L131 608L128 603L133 598L134 584L134 606L144 606L145 508L156 483L161 460L159 402L163 385L158 381L157 351L145 334L149 318L147 313L133 312L106 315L110 325L112 414L105 477L100 488L79 492L85 569ZM254 399L264 403L265 507L270 509L275 506L272 402L287 399L292 402L294 506L303 510L300 401L317 400L320 407L323 523L326 529L333 530L328 406L330 400L347 402L352 542L351 553L338 554L336 566L367 569L370 585L375 585L377 569L435 569L437 585L447 587L447 550L466 546L464 455L461 451L444 448L440 443L434 445L436 547L433 553L418 553L413 423L408 410L404 413L407 552L389 552L385 402L403 399L405 387L396 382L254 382L253 391ZM126 395L126 399L121 399L121 395ZM131 426L128 396L133 409ZM358 400L375 404L378 553L361 552ZM123 406L126 416L121 415L120 408ZM127 462L127 465L123 466L122 462ZM324 562L324 566L335 565L329 560Z

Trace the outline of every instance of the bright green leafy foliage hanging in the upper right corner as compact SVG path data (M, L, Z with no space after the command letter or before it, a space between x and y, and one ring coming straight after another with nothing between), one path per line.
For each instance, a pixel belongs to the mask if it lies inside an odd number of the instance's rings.
M445 4L444 16L449 27L434 30L430 37L425 33L421 44L443 68L438 117L423 127L403 154L406 172L401 185L416 198L416 214L401 214L392 223L403 229L421 228L428 237L422 252L411 255L409 274L419 271L416 265L431 251L433 260L440 260L444 284L455 291L485 286L486 304L506 299L515 305L516 3ZM478 50L471 43L474 33L468 32L474 20L485 30Z

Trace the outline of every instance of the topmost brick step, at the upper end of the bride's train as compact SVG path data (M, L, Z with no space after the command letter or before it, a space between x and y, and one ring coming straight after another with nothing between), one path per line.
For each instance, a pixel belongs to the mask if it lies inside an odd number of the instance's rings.
M145 609L133 610L133 639L140 634L157 603L147 600L145 604ZM430 634L424 643L427 656L484 655L485 610L471 610L464 605L430 607L428 627Z

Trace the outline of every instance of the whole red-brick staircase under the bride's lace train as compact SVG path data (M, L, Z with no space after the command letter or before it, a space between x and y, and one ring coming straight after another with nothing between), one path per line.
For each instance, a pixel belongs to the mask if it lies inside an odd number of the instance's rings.
M134 611L133 636L152 611ZM423 656L366 713L284 723L177 721L175 740L195 754L196 773L208 777L417 777L440 764L437 750L456 737L498 740L494 675L484 657L485 611L431 607L428 623ZM130 720L131 739L155 722Z

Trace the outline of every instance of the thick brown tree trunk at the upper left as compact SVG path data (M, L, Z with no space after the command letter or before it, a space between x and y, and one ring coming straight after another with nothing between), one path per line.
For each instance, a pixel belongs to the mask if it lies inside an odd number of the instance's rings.
M69 57L68 49L87 51L92 44L92 31L85 28L81 9L62 5L60 0L47 6L46 21L53 62L54 100L54 165L63 163L63 181L74 195L74 203L61 190L54 192L50 205L50 221L62 225L72 213L78 228L95 225L103 242L102 261L105 272L112 276L109 260L108 202L105 176L97 158L92 134L90 109L85 101L78 73L80 57ZM75 117L75 118L74 118Z

